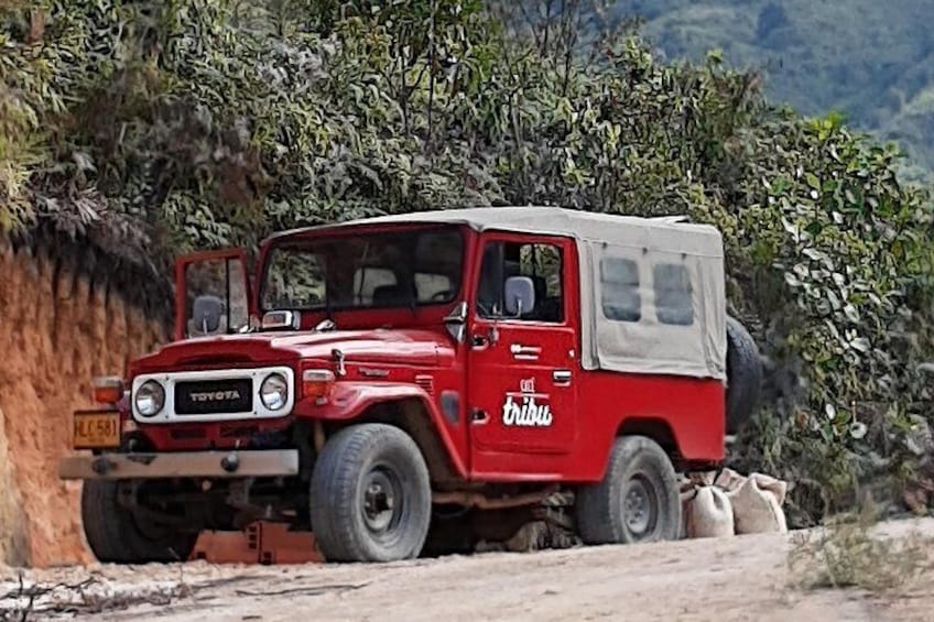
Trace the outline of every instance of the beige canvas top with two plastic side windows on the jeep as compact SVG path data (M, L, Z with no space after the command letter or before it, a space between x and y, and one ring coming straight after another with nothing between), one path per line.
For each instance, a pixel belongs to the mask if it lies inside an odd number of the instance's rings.
M480 207L380 216L303 231L403 223L573 238L580 255L585 369L726 378L724 249L715 227L558 207Z

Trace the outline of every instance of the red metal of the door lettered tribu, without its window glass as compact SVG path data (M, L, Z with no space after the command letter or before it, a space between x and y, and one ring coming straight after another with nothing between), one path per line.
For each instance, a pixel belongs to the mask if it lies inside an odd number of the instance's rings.
M572 240L536 239L562 249L562 276L567 290L576 290ZM523 238L495 234L487 240ZM471 466L479 478L562 477L567 457L576 452L579 314L575 295L563 303L561 324L473 318L468 335L485 341L470 349L467 372L468 402L477 415L471 417ZM556 382L556 371L568 372L571 382Z

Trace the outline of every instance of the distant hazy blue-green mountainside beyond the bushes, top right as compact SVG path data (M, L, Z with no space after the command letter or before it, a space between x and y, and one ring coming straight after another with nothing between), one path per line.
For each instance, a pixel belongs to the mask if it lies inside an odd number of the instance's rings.
M761 68L765 92L805 114L839 110L895 140L915 174L934 170L934 0L619 0L671 59L721 50Z

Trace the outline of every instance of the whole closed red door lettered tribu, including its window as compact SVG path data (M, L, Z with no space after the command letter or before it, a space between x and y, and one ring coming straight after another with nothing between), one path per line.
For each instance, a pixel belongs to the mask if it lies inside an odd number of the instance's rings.
M573 240L558 237L490 233L480 244L467 336L471 470L506 472L523 462L510 456L567 454L574 445L576 254ZM532 281L534 301L509 314L517 276Z

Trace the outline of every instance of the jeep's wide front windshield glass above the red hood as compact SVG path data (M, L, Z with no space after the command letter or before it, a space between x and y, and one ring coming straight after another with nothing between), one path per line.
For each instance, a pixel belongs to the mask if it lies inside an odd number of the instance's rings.
M456 228L285 241L267 259L264 310L384 308L450 303L460 290Z

